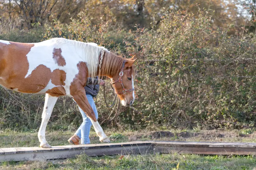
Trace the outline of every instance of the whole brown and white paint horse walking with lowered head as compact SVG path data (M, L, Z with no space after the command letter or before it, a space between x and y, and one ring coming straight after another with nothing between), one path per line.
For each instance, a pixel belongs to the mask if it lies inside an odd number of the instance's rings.
M84 86L87 77L99 74L113 82L122 78L121 83L113 85L122 105L131 105L134 102L134 61L116 56L95 43L64 38L40 43L0 40L0 85L20 93L46 93L38 132L40 147L51 147L45 139L45 130L58 97L64 95L72 97L87 114L100 141L109 142L89 105ZM122 64L123 73L120 72Z

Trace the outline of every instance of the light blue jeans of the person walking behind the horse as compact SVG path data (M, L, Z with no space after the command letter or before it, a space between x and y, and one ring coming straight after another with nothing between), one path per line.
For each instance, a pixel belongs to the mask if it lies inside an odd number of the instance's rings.
M91 107L93 108L93 111L95 113L95 117L96 119L98 119L98 111L96 109L95 103L93 101L93 96L92 95L86 95L89 104L91 105ZM86 116L85 112L79 107L79 110L82 114L83 117L83 123L81 124L81 126L77 129L76 131L76 135L78 137L80 137L81 139L81 144L89 144L90 143L90 139L89 139L89 133L90 133L90 129L92 126L92 122L91 120Z

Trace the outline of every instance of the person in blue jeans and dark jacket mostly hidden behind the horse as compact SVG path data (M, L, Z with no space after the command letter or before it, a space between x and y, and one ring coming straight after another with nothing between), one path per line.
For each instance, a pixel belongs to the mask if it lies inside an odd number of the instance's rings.
M98 76L96 76L96 79L94 79L94 81L92 81L92 78L89 77L87 79L85 86L86 97L88 99L90 106L93 108L93 112L95 113L96 119L98 119L98 112L93 101L93 98L97 97L100 85L104 85L105 83L102 79L100 79L99 84L97 83L98 81ZM90 144L89 133L92 126L92 122L80 107L79 110L82 114L83 122L81 126L76 130L76 133L68 139L68 142L71 143L72 145L79 145L79 140L81 139L81 144Z

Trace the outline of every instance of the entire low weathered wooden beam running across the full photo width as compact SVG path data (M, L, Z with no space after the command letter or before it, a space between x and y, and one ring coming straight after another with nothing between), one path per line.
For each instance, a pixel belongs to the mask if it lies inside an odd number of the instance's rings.
M201 155L256 154L256 143L135 141L126 143L40 147L1 148L0 162L72 158L81 153L88 156L178 153Z

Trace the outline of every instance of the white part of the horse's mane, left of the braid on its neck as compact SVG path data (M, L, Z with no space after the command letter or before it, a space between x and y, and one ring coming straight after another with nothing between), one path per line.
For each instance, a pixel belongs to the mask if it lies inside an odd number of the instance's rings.
M70 44L75 46L75 48L77 49L83 49L82 56L80 57L86 61L86 65L88 68L88 77L91 77L93 79L96 76L101 50L103 49L108 52L106 48L99 47L96 43L85 43L81 41L68 40L65 38L53 39L56 40L56 44Z

